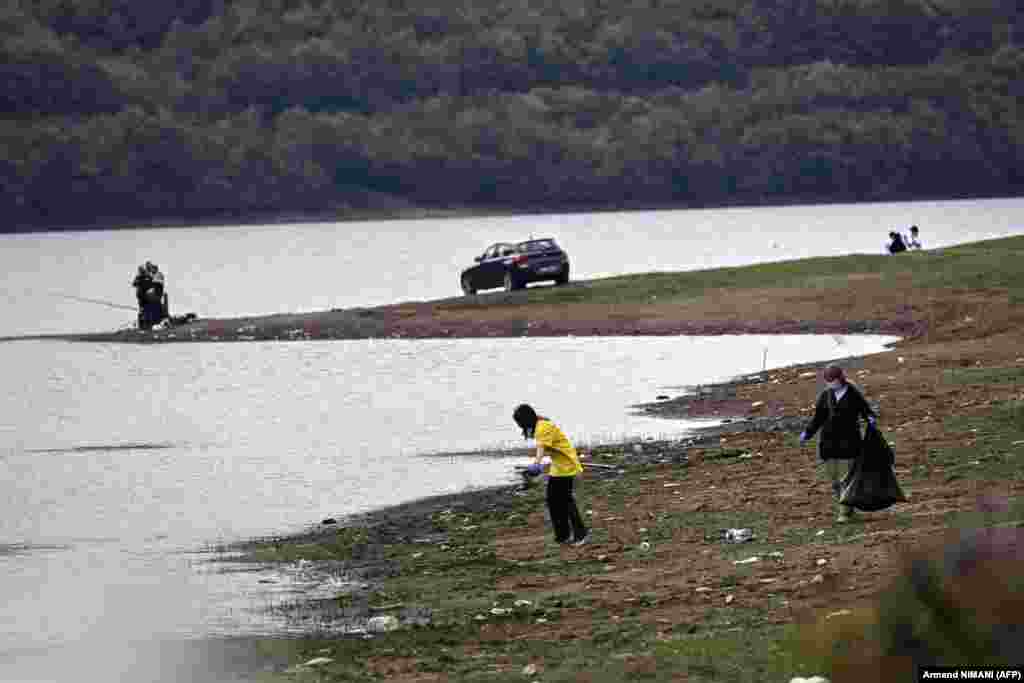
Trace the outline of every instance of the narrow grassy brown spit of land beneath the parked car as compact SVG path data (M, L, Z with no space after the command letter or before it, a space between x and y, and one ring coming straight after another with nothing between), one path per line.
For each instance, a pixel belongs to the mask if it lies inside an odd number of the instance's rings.
M929 341L1024 323L1024 237L899 257L852 255L655 272L372 308L50 335L135 343L308 339L881 333Z

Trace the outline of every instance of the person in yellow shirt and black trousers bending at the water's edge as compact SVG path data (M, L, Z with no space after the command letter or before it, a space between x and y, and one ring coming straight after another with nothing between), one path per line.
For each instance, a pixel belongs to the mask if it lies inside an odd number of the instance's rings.
M555 542L562 545L584 545L589 531L572 496L572 482L583 472L583 465L580 464L580 457L572 447L572 442L555 423L539 416L526 403L515 409L512 419L522 429L523 437L537 440L537 454L530 470L539 474L543 471L541 461L545 456L551 458L547 503L551 525L555 530Z

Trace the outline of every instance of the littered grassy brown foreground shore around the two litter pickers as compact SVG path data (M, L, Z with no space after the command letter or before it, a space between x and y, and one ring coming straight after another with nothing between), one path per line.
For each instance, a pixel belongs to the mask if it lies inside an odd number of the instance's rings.
M880 411L909 498L854 524L835 524L815 450L796 436L820 389L826 361L814 361L632 407L721 423L675 440L581 447L578 499L593 540L580 549L551 541L537 483L424 497L239 544L261 566L325 560L325 581L355 582L294 605L289 617L310 629L287 645L291 666L271 680L311 671L303 667L316 657L328 659L316 665L325 681L365 671L401 683L443 680L426 672L464 680L542 665L568 672L556 680L627 680L630 663L682 675L688 661L716 672L709 681L748 680L736 676L755 667L772 672L758 680L846 680L827 656L795 650L806 645L798 635L831 634L822 625L834 617L835 629L859 633L908 558L934 557L959 524L977 523L979 497L1024 500L1014 459L1024 425L999 417L1024 405L1022 384L1008 381L1024 380L1020 341L1017 329L919 338L839 359ZM525 461L528 451L511 453ZM733 527L753 529L754 541L724 542ZM633 654L577 660L544 646L562 641ZM719 657L723 648L730 657ZM610 678L596 673L608 667Z

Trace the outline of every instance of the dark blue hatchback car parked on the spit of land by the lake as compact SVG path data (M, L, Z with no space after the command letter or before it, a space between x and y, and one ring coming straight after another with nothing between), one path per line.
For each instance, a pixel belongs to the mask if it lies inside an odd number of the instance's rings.
M504 287L506 292L522 289L527 283L569 282L569 257L551 238L526 242L499 242L475 259L476 265L462 271L462 291Z

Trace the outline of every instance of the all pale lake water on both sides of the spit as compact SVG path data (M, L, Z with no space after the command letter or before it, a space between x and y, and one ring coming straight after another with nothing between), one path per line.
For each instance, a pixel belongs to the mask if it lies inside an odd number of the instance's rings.
M0 336L130 324L131 311L57 295L130 306L147 258L177 311L242 315L450 296L483 247L529 233L556 237L587 278L878 253L911 222L929 247L1015 234L1024 201L3 236ZM308 588L301 572L268 587L212 570L202 551L509 481L506 458L430 454L522 445L510 419L520 401L582 442L673 436L692 425L629 407L765 357L888 341L0 344L0 680L63 683L93 667L105 675L87 678L180 680L174 665L128 655L163 638L284 628L261 610Z

